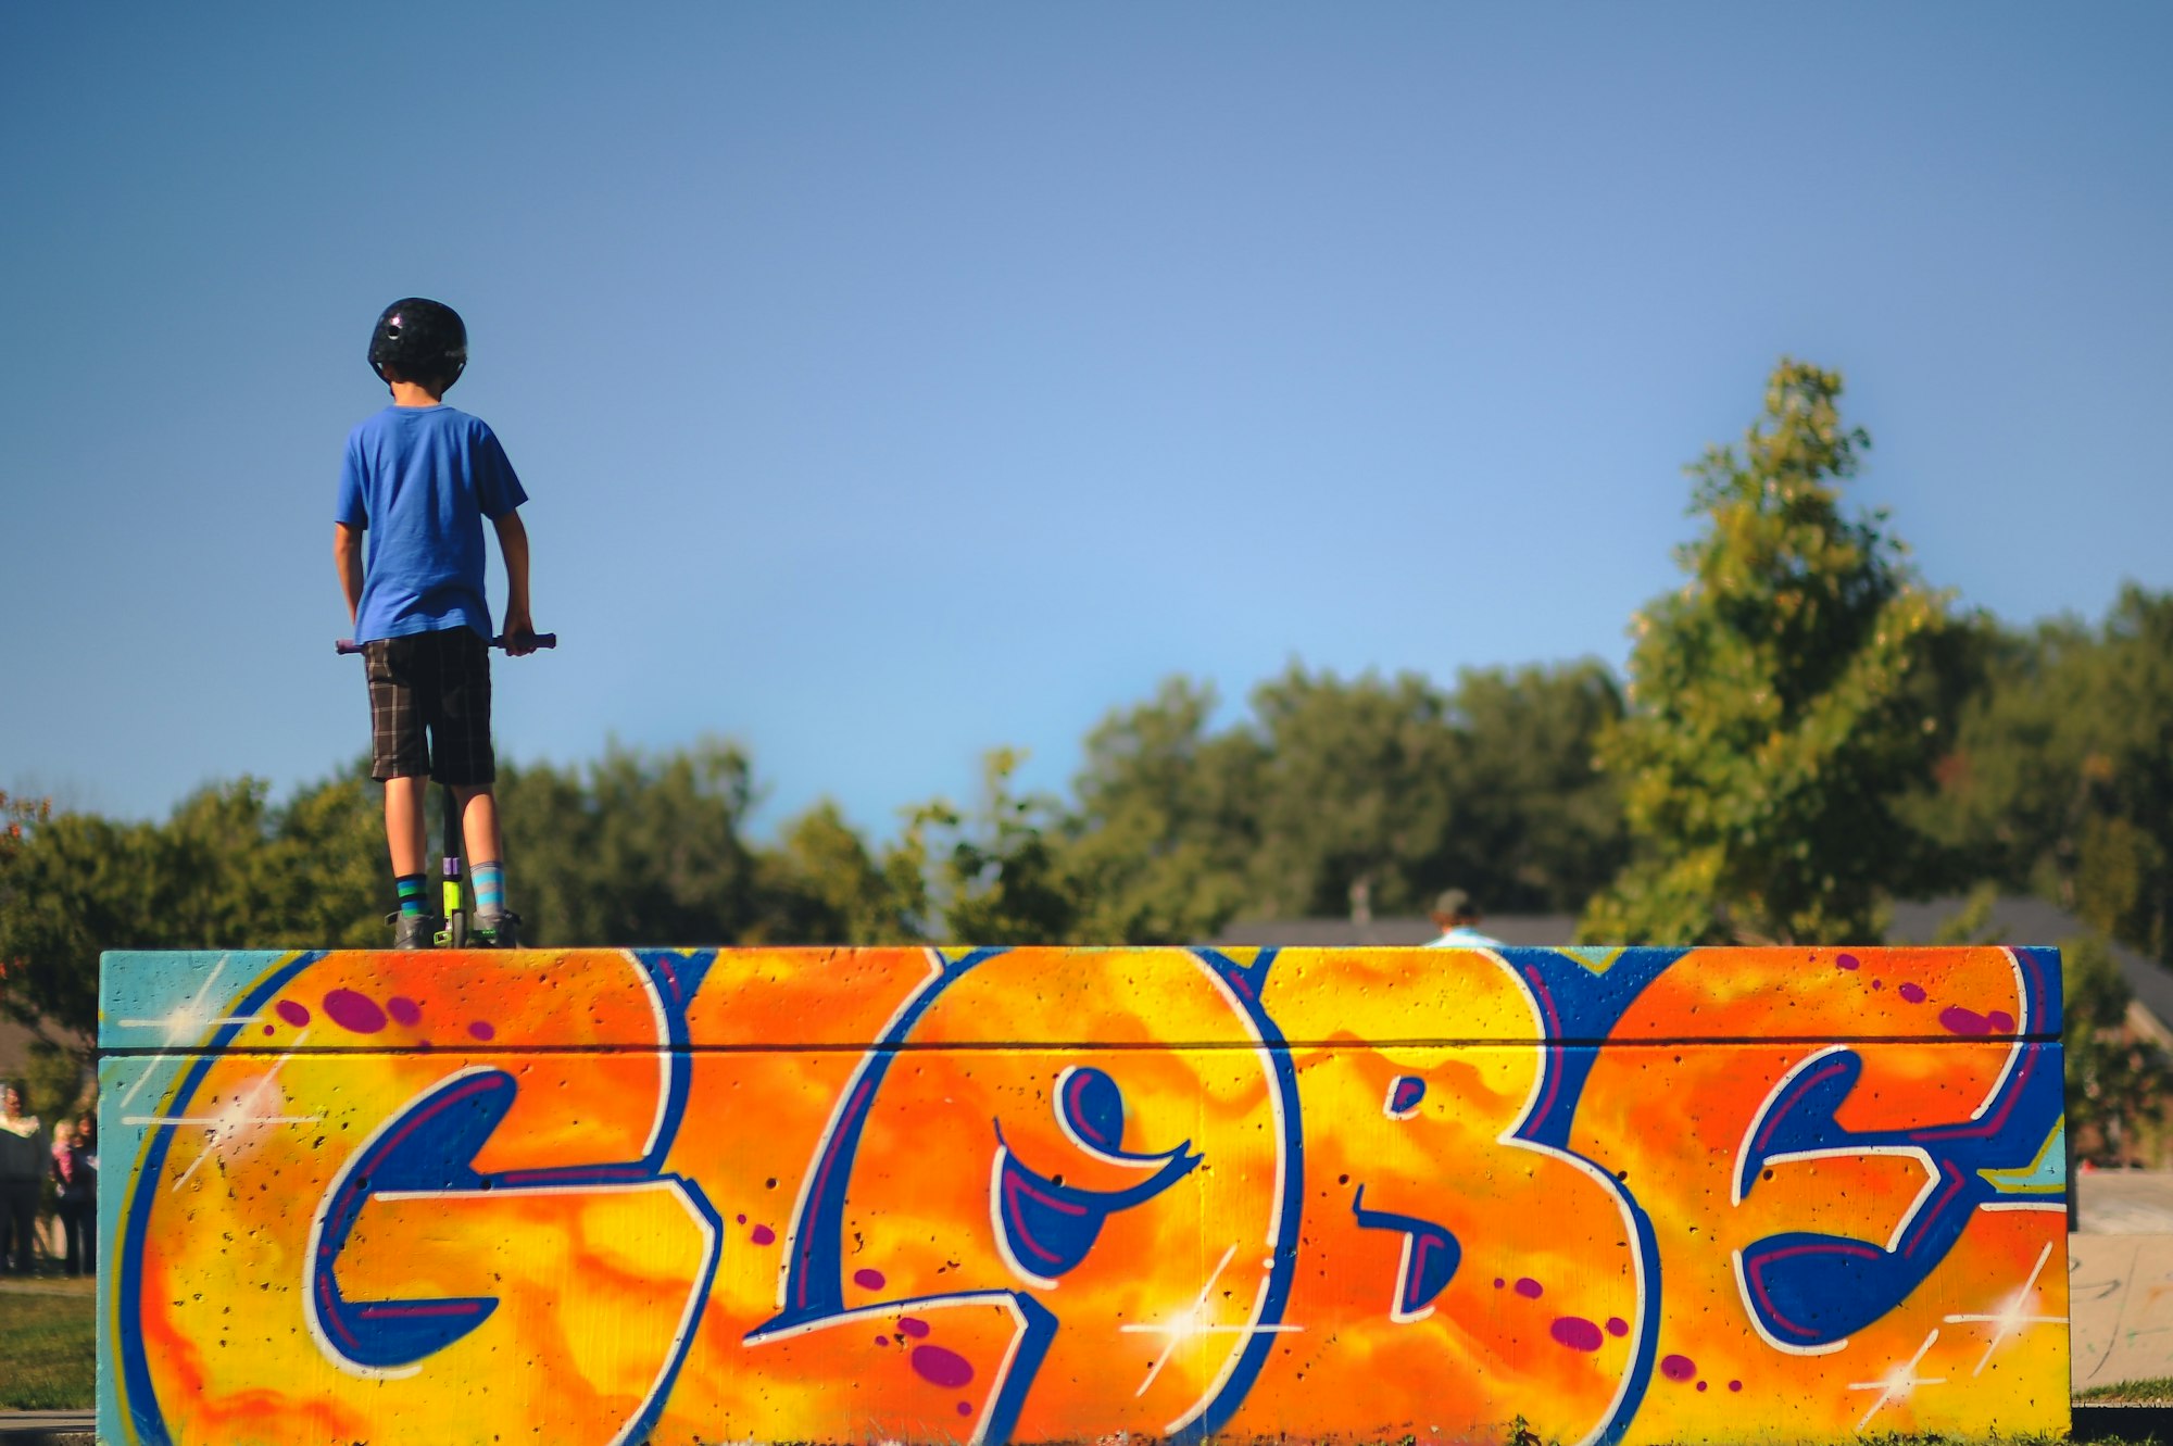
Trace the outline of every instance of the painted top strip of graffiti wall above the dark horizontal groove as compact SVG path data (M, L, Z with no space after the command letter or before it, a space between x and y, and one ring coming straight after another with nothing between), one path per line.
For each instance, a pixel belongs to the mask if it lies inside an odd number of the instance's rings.
M1986 1044L2060 1038L2056 949L522 949L106 953L109 1053ZM1152 1040L1139 1001L1156 1001ZM982 1005L976 1007L974 1001Z

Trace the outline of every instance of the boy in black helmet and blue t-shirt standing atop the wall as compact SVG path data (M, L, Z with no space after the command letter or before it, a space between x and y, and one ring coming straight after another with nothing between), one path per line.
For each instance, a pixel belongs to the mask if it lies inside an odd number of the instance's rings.
M443 302L406 297L378 317L369 369L393 404L348 436L332 558L369 673L369 777L385 784L385 842L400 912L393 949L428 949L443 921L424 875L430 779L452 788L476 886L476 942L515 949L491 779L491 608L482 519L506 560L506 651L532 654L528 502L480 419L443 404L467 367L467 326ZM363 567L363 530L372 532ZM428 740L426 740L428 734Z

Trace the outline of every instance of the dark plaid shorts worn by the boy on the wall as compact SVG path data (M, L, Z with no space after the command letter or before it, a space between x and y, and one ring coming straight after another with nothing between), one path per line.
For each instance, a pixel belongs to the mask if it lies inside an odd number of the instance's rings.
M369 777L489 784L491 645L472 627L363 643L369 673ZM428 734L428 738L426 738Z

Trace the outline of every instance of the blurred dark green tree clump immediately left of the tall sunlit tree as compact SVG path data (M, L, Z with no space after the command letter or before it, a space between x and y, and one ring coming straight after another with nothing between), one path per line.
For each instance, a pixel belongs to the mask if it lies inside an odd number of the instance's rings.
M1615 782L1593 764L1621 714L1597 662L1404 673L1291 667L1210 732L1186 680L1086 738L1067 868L1082 931L1182 942L1232 916L1419 912L1458 884L1495 912L1578 908L1623 858Z

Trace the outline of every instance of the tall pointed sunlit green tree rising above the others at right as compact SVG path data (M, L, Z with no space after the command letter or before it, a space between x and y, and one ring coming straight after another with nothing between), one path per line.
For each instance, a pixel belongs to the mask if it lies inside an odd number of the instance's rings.
M1899 810L1943 743L1947 608L1884 512L1843 515L1871 443L1838 397L1838 373L1782 360L1741 449L1691 469L1688 582L1636 619L1599 749L1634 853L1588 940L1875 940L1882 895L1914 881Z

